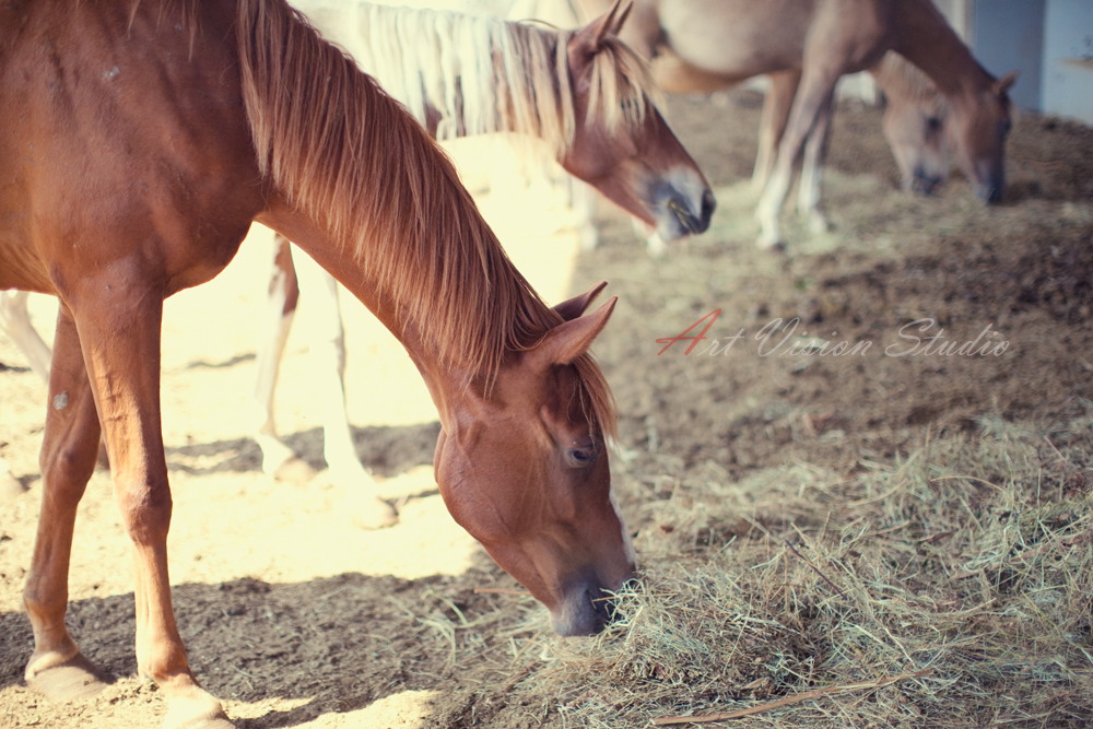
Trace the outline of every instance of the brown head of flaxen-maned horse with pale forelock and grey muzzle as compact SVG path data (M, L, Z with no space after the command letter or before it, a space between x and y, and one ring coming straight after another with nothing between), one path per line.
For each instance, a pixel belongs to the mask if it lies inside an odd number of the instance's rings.
M616 37L630 12L619 2L566 44L576 128L562 166L666 242L702 233L714 193L650 99L647 64Z

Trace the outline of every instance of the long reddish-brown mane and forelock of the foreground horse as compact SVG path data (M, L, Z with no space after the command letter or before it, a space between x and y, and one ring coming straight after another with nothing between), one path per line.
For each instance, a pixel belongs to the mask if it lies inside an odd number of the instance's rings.
M198 0L181 4L196 24ZM562 319L513 266L451 162L284 0L238 0L236 32L262 174L355 257L426 348L489 388L506 352L533 348ZM612 437L602 373L588 354L573 364L586 416Z

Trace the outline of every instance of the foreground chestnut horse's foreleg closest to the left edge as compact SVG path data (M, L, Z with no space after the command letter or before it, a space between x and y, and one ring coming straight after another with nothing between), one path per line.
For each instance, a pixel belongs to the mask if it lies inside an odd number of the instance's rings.
M95 469L98 414L71 315L57 317L49 407L42 445L42 513L23 604L34 628L26 682L56 701L97 693L107 679L64 627L69 556L77 506Z

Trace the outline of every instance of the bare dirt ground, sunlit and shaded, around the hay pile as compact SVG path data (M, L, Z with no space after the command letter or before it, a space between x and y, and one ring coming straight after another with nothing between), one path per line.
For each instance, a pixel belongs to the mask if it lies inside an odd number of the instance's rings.
M742 481L810 463L850 478L863 463L897 461L924 436L971 433L984 415L1065 424L1085 412L1093 130L1023 116L1008 148L1007 199L986 209L959 174L931 198L898 191L880 110L843 104L824 179L833 230L808 234L787 205L790 245L771 254L752 244L748 187L760 105L749 91L669 101L670 121L716 188L708 233L650 260L628 221L604 211L601 246L577 256L572 272L537 284L556 301L603 279L620 297L596 353L621 413L613 469L632 531L656 529L646 506L702 469ZM508 244L532 274L573 250L564 236L529 243L519 233L502 238L530 248ZM360 308L346 305L350 414L357 450L402 522L363 532L324 474L303 486L262 475L258 448L245 438L245 407L265 245L248 242L220 279L169 302L165 316L172 581L201 681L240 729L580 726L579 714L515 668L543 645L543 611L504 591L475 592L517 586L444 512L428 468L438 426L427 395ZM687 341L660 353L658 339L715 309L707 337L719 340L716 355L709 341L690 355ZM36 301L35 314L48 329L49 302ZM756 339L794 318L792 332ZM279 423L321 468L305 348L294 337ZM997 355L933 353L977 337L977 350L989 341ZM827 342L828 352L843 341L869 348L847 356L788 351L804 341ZM69 625L117 681L63 706L23 686L32 637L19 600L40 495L45 400L24 364L0 339L0 457L28 486L0 503L0 727L157 726L163 704L136 674L128 543L106 472L81 507ZM696 549L721 548L737 530L710 525Z

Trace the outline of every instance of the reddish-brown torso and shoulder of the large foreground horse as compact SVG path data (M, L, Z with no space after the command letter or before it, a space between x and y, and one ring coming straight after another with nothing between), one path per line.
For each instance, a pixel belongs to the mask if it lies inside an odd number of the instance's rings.
M126 264L167 295L234 255L260 179L235 3L160 5L0 5L0 287L64 296Z

